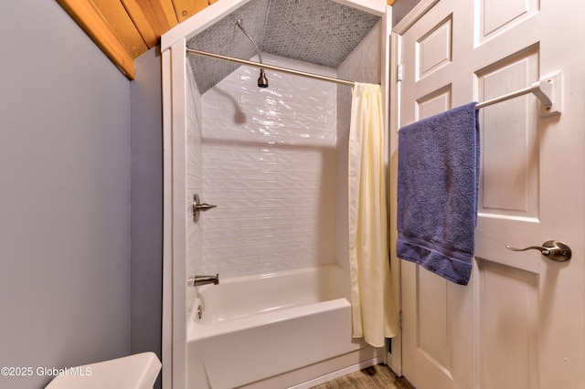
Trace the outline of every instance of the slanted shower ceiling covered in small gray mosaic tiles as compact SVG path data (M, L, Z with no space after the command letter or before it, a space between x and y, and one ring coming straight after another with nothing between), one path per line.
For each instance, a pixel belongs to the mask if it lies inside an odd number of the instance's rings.
M262 53L337 68L375 26L380 16L332 0L250 0L186 42L189 48L251 59ZM238 64L189 55L199 93L204 94Z

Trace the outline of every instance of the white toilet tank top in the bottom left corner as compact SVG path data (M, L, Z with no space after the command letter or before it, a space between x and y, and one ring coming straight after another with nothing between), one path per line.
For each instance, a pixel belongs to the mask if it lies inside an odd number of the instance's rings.
M71 367L48 389L152 389L161 370L154 352L142 352L100 363Z

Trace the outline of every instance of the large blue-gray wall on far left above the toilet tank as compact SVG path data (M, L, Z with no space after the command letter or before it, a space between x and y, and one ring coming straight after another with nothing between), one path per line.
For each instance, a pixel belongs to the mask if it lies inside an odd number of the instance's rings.
M0 33L0 366L128 355L130 81L55 1L0 2Z

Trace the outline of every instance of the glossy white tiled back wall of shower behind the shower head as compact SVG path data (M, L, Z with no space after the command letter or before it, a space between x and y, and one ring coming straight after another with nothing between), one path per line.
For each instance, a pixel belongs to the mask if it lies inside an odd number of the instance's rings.
M335 70L263 55L266 63ZM256 58L257 59L257 58ZM223 277L335 262L336 84L240 67L201 98L202 271ZM199 268L197 266L197 268Z

